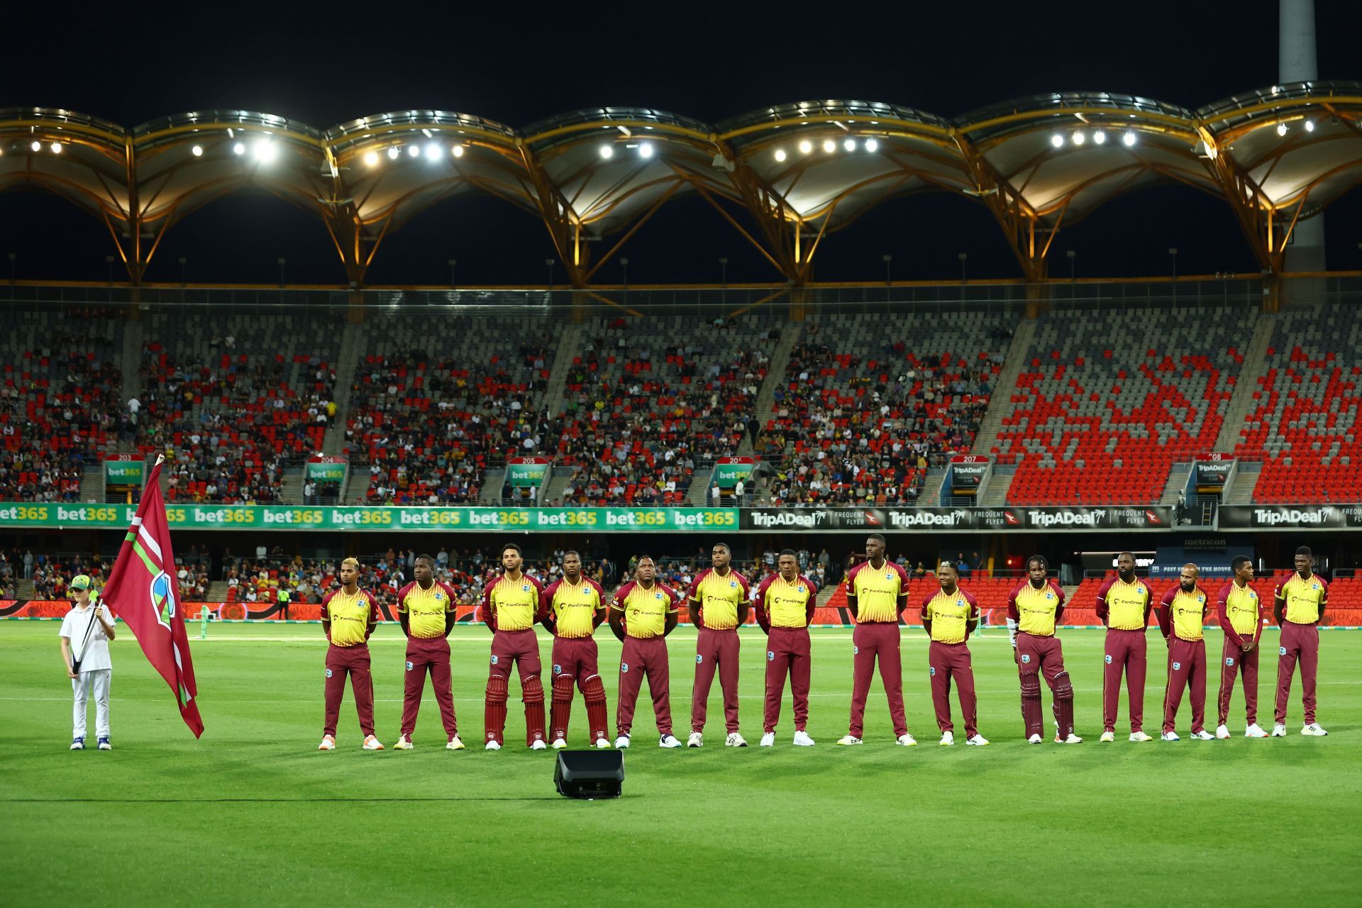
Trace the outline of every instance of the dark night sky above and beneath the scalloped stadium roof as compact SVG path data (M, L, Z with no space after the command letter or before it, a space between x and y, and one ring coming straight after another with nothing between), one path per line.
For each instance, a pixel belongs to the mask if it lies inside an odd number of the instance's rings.
M1057 90L1137 94L1189 108L1272 84L1278 4L123 4L53 26L42 7L5 14L0 106L69 108L125 125L207 108L240 108L319 128L409 108L459 110L524 127L599 105L650 106L714 123L770 103L858 98L956 116ZM489 10L501 8L496 14ZM992 10L992 12L990 12ZM136 26L128 26L129 15ZM1317 0L1323 79L1362 79L1362 4ZM30 35L16 39L16 35ZM1333 268L1362 268L1362 191L1325 215ZM61 237L61 242L53 242ZM1080 276L1253 271L1227 206L1189 188L1124 196L1065 229ZM0 195L0 250L19 278L102 279L102 223L38 193ZM819 250L823 280L951 279L957 252L971 278L1020 270L987 212L926 195L868 214ZM384 242L369 283L537 283L552 255L538 221L492 199L458 199ZM703 201L673 201L624 252L633 283L774 280L775 272ZM286 203L229 197L168 233L148 279L339 282L321 223ZM1051 272L1066 271L1061 261ZM561 272L560 272L561 275ZM599 282L617 280L613 265Z

